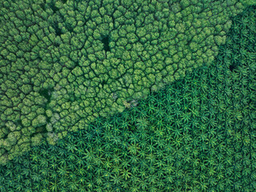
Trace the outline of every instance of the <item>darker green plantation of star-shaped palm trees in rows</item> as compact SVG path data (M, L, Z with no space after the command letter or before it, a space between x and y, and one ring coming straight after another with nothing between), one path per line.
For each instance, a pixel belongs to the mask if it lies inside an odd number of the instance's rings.
M0 167L0 191L256 191L256 7L212 65Z

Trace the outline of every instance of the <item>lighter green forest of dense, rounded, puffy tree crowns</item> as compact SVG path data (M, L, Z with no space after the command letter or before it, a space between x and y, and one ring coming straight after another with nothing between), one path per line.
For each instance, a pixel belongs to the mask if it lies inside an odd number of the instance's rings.
M0 1L0 162L209 65L249 2Z

